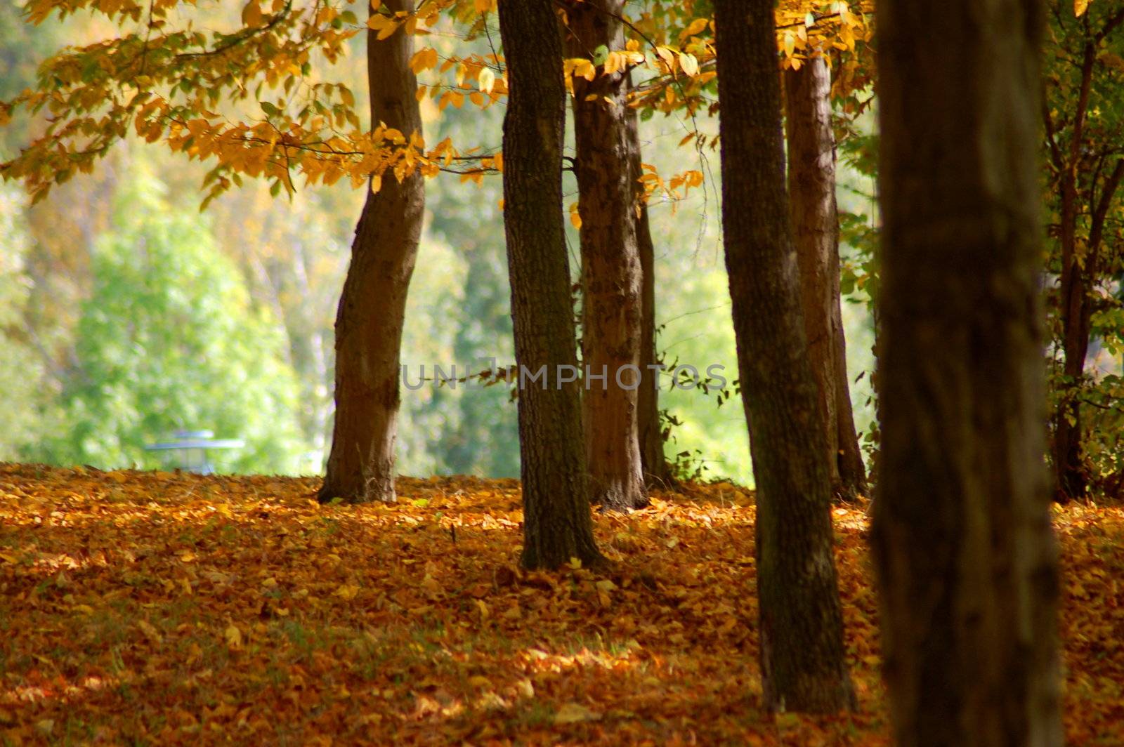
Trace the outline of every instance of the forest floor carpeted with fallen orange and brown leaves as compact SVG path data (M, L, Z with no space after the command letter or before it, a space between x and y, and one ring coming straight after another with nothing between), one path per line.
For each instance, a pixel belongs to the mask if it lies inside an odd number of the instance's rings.
M597 514L616 570L517 570L513 480L0 465L3 744L888 744L859 510L835 510L859 710L761 710L752 499ZM1070 744L1124 744L1124 511L1058 510Z

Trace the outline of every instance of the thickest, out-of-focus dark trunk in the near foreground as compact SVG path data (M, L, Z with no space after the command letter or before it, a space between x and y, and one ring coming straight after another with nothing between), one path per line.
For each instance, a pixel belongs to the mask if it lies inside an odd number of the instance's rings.
M1041 0L879 6L872 536L904 747L1062 744L1037 288L1042 12Z

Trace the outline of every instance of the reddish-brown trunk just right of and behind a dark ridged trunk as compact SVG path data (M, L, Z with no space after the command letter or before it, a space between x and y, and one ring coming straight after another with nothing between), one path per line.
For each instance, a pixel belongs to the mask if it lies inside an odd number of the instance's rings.
M624 48L624 0L566 8L566 54L593 60ZM596 63L595 63L596 64ZM627 122L628 72L573 79L574 174L581 216L582 413L592 500L607 508L647 504L637 430L642 384L642 267Z

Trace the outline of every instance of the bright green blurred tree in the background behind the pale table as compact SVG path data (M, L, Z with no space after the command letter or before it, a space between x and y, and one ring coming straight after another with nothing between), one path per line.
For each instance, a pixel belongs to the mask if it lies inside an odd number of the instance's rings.
M143 446L187 427L245 439L223 468L291 472L298 386L278 324L251 307L200 219L171 211L162 191L135 177L93 248L65 427L44 440L42 457L154 467L160 457Z

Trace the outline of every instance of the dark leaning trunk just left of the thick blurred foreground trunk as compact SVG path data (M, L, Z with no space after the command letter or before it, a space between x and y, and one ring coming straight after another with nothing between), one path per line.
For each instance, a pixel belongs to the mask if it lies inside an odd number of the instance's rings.
M843 658L826 432L785 193L772 0L716 0L722 224L756 481L761 677L772 710L854 704Z

